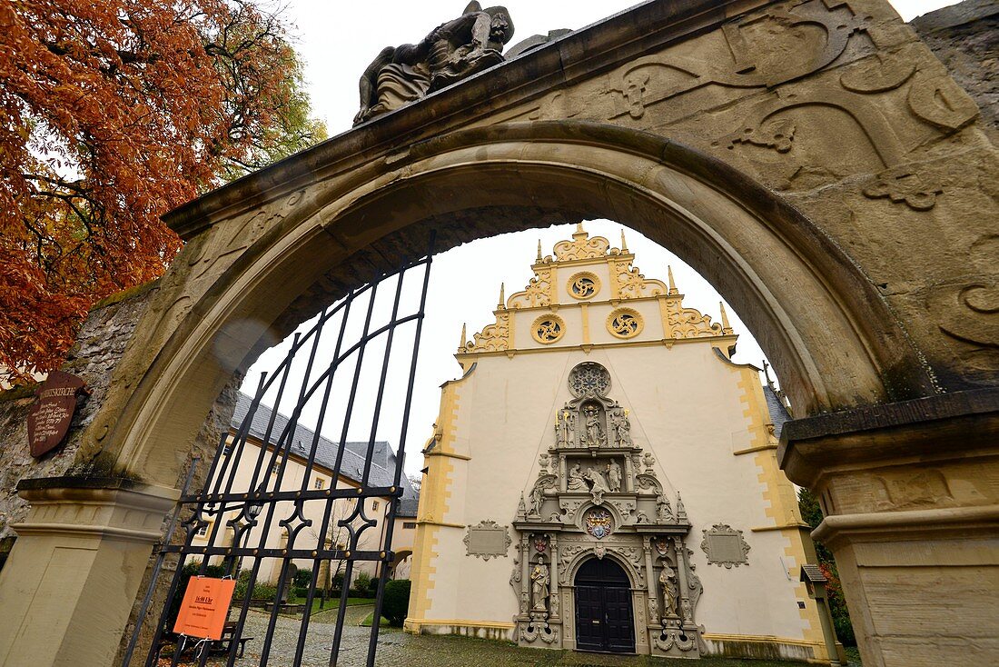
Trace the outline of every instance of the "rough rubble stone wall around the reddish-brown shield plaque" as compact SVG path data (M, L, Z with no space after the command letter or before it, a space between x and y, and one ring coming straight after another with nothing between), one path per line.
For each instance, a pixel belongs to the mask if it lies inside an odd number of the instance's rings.
M40 459L28 453L28 411L37 385L0 394L0 538L10 524L22 520L28 504L17 495L17 483L32 477L70 474L80 435L97 414L111 384L115 364L125 352L140 315L159 289L158 281L126 290L98 303L77 335L62 370L83 378L90 395L81 397L66 445ZM83 472L83 471L80 471Z

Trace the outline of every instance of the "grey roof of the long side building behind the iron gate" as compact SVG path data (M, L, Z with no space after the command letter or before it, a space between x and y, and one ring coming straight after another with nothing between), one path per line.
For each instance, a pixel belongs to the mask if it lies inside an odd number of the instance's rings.
M243 420L246 419L247 413L250 411L250 405L253 399L251 399L246 394L242 392L239 394L239 400L236 403L236 410L233 412L233 418L230 421L230 426L234 431L238 431ZM267 425L271 421L271 415L273 410L263 403L257 408L257 411L253 415L253 419L250 423L249 434L260 440L264 441L264 436L267 434ZM277 413L274 417L274 428L271 431L271 443L278 441L281 438L281 434L284 433L289 427L288 417ZM306 428L302 425L296 425L295 434L292 438L292 452L298 454L299 456L308 457L309 448L312 447L313 439L316 437L316 432L312 429ZM372 466L371 471L368 476L368 484L370 486L392 486L395 482L396 473L396 452L392 449L392 446L385 441L378 441L375 443L373 449ZM330 440L320 436L319 441L316 443L316 464L324 468L327 468L330 472L333 471L334 466L337 463L337 452L340 450L339 445ZM354 480L355 482L361 483L364 477L365 469L365 452L368 450L367 442L348 442L344 447L344 458L340 467L340 474L344 477ZM400 480L400 486L403 487L403 498L414 499L419 497L417 491L410 484L410 480L404 474ZM403 506L403 503L400 503Z

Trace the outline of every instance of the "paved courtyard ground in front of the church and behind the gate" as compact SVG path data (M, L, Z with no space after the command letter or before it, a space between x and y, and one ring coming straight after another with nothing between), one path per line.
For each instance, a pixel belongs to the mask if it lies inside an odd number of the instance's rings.
M370 614L372 606L351 607L347 610L344 641L340 652L340 667L363 667L368 656L370 628L357 624ZM336 612L323 612L313 616L306 640L305 659L302 667L328 667L330 645L336 622ZM257 637L247 643L246 655L238 667L256 667L260 664L260 650L268 616L251 612L247 618L244 636ZM274 634L274 643L267 667L294 667L295 643L298 639L299 619L280 617ZM383 629L379 634L379 667L686 667L690 663L680 660L651 658L648 656L614 656L572 651L524 649L497 641L468 639L464 637L413 636L401 630ZM793 667L800 663L702 659L697 667ZM850 662L850 665L857 663Z

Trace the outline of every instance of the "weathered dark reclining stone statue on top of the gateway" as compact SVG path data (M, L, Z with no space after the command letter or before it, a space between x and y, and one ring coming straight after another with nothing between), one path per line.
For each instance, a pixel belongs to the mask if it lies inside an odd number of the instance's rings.
M354 124L502 62L502 48L512 36L513 22L505 7L483 9L474 1L419 44L386 47L361 76L361 110Z

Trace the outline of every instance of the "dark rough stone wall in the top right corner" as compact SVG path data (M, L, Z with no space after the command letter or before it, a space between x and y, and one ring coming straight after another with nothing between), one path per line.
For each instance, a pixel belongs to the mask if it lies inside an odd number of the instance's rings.
M909 25L975 100L990 138L999 143L999 3L965 0Z

